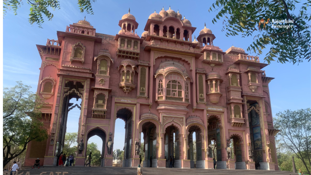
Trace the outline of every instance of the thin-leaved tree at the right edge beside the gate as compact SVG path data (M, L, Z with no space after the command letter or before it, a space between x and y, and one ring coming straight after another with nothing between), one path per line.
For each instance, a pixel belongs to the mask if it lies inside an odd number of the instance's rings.
M311 110L286 110L276 114L274 126L280 130L277 134L279 149L291 152L304 165L310 174L311 164ZM301 169L301 168L300 168Z

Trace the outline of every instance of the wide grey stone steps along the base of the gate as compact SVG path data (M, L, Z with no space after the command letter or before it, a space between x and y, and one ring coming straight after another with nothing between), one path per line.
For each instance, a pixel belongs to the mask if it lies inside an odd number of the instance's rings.
M137 168L126 167L42 167L27 168L23 170L23 175L27 171L30 175L49 175L53 172L68 172L75 175L137 175ZM21 172L20 172L21 173ZM19 173L19 174L20 174ZM296 175L289 171L267 171L267 170L228 170L228 169L182 169L182 168L142 168L143 175Z

